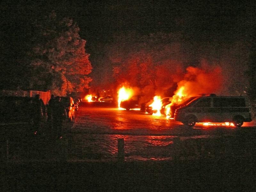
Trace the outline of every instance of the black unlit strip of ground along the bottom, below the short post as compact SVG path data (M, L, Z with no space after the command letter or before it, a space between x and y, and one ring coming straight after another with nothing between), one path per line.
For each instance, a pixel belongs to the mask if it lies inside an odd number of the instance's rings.
M26 163L1 167L1 191L255 191L255 159Z

